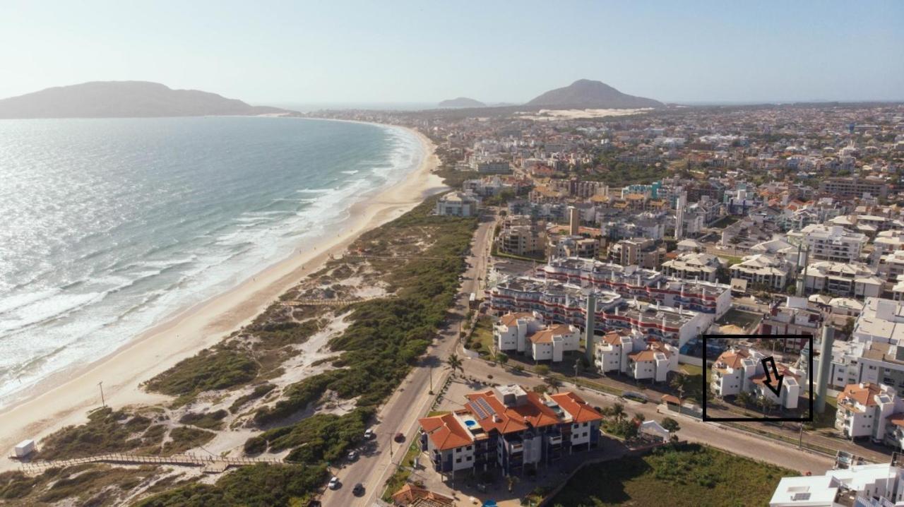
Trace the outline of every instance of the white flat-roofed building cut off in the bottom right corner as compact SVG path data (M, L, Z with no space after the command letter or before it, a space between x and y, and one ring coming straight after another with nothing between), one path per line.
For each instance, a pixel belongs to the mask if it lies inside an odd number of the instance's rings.
M852 465L824 475L784 477L769 507L900 507L904 505L904 468Z

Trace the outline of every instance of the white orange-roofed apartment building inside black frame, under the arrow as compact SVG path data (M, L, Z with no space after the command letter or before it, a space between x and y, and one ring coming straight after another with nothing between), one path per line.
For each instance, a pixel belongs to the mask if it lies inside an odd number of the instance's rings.
M712 363L712 392L721 398L737 396L742 391L749 392L755 398L765 397L783 408L797 408L804 372L785 364L777 364L778 374L783 375L784 379L781 390L776 395L769 386L775 388L777 379L771 374L767 376L763 368L762 360L766 357L755 350L731 348L722 352L719 359Z

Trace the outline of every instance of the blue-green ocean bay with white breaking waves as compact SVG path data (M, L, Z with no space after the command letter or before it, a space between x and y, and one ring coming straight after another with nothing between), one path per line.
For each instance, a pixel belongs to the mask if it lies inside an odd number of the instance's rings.
M314 119L0 120L0 407L313 248L425 155Z

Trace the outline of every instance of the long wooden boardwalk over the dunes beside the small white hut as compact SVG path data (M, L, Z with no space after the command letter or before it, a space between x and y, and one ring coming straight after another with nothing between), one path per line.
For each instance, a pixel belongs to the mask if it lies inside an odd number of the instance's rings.
M23 463L21 468L22 471L26 474L41 474L48 468L61 468L64 466L82 465L86 463L109 463L113 465L201 466L205 474L220 474L232 466L257 465L259 463L281 465L287 462L279 458L266 457L221 457L194 454L151 456L133 455L129 453L114 453L108 455L77 457L72 459L33 461L29 463Z

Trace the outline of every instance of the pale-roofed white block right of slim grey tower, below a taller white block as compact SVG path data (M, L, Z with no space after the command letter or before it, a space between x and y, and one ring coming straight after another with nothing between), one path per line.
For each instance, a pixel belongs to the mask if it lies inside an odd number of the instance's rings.
M835 296L879 297L882 280L875 269L860 262L817 261L807 265L804 288Z

